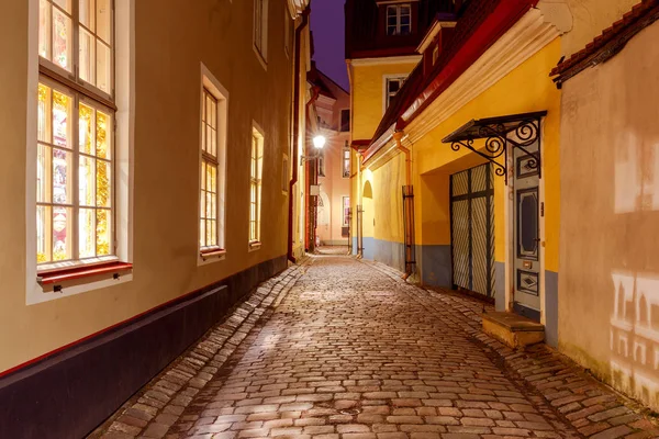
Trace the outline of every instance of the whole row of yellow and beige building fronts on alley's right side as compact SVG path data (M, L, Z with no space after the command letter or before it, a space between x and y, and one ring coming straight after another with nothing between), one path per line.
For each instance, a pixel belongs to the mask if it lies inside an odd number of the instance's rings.
M364 258L537 322L656 407L657 10L636 3L468 2L435 19L379 121L391 70L349 59L354 227Z

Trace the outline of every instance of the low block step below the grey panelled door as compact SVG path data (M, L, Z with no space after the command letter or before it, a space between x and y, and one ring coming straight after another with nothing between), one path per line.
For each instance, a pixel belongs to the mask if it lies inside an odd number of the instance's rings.
M513 313L484 313L483 331L516 349L545 340L545 326Z

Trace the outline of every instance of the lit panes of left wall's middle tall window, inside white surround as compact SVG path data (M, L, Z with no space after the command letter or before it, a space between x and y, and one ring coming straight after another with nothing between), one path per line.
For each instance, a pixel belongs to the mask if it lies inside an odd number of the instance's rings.
M217 227L217 99L203 89L201 111L201 212L199 246L201 254L220 248Z

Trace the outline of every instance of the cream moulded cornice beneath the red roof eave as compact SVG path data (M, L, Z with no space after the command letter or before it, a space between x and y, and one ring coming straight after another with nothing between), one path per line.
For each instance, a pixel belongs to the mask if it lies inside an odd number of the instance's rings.
M517 23L435 99L405 132L416 143L560 35L538 9Z

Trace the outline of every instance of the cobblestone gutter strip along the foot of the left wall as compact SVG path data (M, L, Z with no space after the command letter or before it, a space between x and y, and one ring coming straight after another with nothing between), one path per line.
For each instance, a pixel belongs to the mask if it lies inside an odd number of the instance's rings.
M306 271L311 259L289 267L263 282L247 300L227 313L224 323L170 363L160 374L122 406L89 439L161 438L177 423L200 391L215 376L257 325L267 322L292 285ZM247 340L249 341L249 340ZM234 364L228 365L232 368Z

